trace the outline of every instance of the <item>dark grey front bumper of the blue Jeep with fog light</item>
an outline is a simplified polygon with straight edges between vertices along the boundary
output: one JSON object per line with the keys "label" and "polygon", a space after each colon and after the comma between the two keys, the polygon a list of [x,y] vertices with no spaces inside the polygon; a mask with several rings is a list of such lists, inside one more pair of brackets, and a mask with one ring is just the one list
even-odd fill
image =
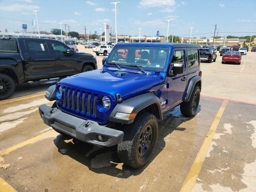
{"label": "dark grey front bumper of the blue Jeep with fog light", "polygon": [[[45,104],[39,107],[39,113],[48,126],[95,146],[114,146],[122,142],[124,137],[124,132],[120,130],[101,126],[95,121],[83,120]],[[98,140],[98,135],[102,136],[102,142]]]}

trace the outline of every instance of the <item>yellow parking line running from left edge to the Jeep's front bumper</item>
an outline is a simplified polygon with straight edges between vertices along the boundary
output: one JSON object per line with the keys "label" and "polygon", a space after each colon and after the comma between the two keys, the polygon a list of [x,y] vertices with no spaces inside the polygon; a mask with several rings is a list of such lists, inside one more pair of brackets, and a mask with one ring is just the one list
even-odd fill
{"label": "yellow parking line running from left edge to the Jeep's front bumper", "polygon": [[54,133],[54,132],[55,132],[54,130],[50,130],[50,131],[44,132],[44,133],[42,133],[42,134],[40,134],[38,136],[35,136],[35,137],[31,138],[31,139],[28,139],[28,140],[24,141],[22,143],[19,143],[19,144],[15,145],[15,146],[12,146],[12,147],[7,148],[5,150],[2,150],[0,152],[0,155],[6,155],[6,154],[8,154],[8,153],[18,149],[18,148],[21,148],[21,147],[26,146],[26,145],[28,145],[30,143],[36,142],[36,141],[38,141],[38,140],[40,140],[40,139],[42,139],[42,138],[44,138],[44,137]]}

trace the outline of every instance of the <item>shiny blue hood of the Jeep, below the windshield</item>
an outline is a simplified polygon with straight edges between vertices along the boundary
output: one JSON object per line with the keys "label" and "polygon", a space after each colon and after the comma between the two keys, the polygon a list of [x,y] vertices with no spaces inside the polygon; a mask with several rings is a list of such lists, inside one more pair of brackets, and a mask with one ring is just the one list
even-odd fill
{"label": "shiny blue hood of the Jeep, below the windshield", "polygon": [[163,78],[160,74],[143,74],[138,70],[109,68],[108,70],[98,69],[70,76],[60,80],[59,83],[105,93],[115,99],[117,93],[125,98],[136,92],[149,90],[158,85],[161,79]]}

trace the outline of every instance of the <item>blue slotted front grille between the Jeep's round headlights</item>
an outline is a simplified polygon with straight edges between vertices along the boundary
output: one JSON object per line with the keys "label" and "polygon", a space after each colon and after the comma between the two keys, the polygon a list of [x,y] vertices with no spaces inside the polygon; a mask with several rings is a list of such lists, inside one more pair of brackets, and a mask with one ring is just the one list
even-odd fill
{"label": "blue slotted front grille between the Jeep's round headlights", "polygon": [[74,88],[62,88],[62,108],[96,118],[98,95]]}

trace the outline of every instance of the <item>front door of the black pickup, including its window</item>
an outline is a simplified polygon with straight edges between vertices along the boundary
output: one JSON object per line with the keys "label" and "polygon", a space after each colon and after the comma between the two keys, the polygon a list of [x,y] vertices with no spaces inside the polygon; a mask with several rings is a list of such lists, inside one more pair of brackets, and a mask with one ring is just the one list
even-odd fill
{"label": "front door of the black pickup, including its window", "polygon": [[68,76],[80,73],[76,53],[73,55],[65,54],[66,50],[71,48],[57,41],[50,41],[49,47],[52,48],[52,52],[55,55],[56,76]]}

